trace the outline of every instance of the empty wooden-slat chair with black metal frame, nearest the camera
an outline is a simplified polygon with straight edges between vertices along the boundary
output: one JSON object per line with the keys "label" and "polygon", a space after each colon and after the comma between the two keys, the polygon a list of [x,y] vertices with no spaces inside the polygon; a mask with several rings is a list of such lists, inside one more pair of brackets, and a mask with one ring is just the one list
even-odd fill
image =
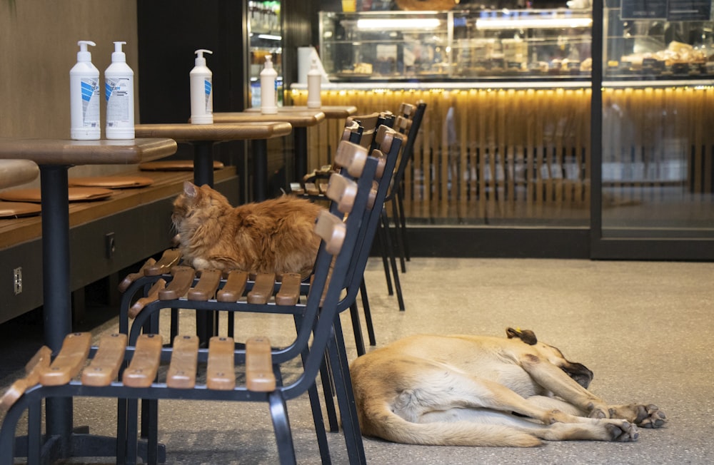
{"label": "empty wooden-slat chair with black metal frame, nearest the camera", "polygon": [[[163,347],[160,335],[141,334],[136,343],[130,342],[127,346],[126,335],[117,333],[104,337],[99,347],[90,347],[89,334],[70,334],[51,364],[47,362],[46,351],[39,353],[29,365],[25,381],[14,384],[15,389],[2,397],[0,405],[8,412],[0,429],[0,465],[14,463],[16,424],[26,409],[31,409],[28,451],[41,450],[41,418],[37,412],[41,400],[48,397],[266,402],[270,405],[281,464],[294,464],[296,456],[286,402],[314,387],[326,351],[344,365],[336,371],[335,384],[338,399],[345,401],[344,405],[341,404],[341,412],[350,462],[366,463],[356,412],[353,404],[347,402],[351,397],[351,384],[346,359],[337,352],[333,322],[338,320],[337,308],[343,282],[349,270],[356,265],[358,240],[364,238],[363,228],[368,226],[368,222],[364,221],[364,212],[373,193],[377,166],[378,160],[368,158],[363,175],[357,182],[338,181],[336,178],[335,184],[341,185],[341,188],[334,189],[331,196],[340,201],[341,208],[348,210],[349,215],[343,220],[341,215],[323,212],[318,218],[315,230],[322,242],[305,303],[281,307],[275,302],[257,305],[245,301],[211,300],[196,301],[200,305],[193,305],[197,310],[216,310],[218,307],[218,310],[230,311],[292,313],[296,316],[298,331],[291,344],[273,349],[268,337],[258,337],[249,339],[245,349],[236,349],[230,338],[213,337],[208,349],[203,349],[198,348],[196,337],[189,335],[178,337],[172,347]],[[175,303],[183,307],[187,302]],[[140,312],[138,318],[148,315],[152,306],[158,308],[162,305],[152,302]],[[80,379],[76,379],[88,357],[91,359],[89,367],[84,369]],[[291,384],[283,384],[280,368],[296,357],[303,357],[303,372]],[[129,366],[121,372],[125,361],[129,362]],[[169,369],[164,379],[157,379],[161,361],[170,362]],[[244,386],[236,386],[236,377],[231,375],[236,364],[245,369]],[[206,371],[206,384],[199,384],[196,370],[203,372],[203,369]],[[119,381],[115,380],[117,374],[121,378]],[[343,374],[346,377],[343,378]],[[117,440],[118,456],[126,451],[130,442],[124,444]],[[326,441],[319,442],[323,463],[326,463],[329,461]],[[36,455],[33,454],[29,463],[39,462],[40,458]],[[135,462],[136,456],[124,456],[122,459]]]}

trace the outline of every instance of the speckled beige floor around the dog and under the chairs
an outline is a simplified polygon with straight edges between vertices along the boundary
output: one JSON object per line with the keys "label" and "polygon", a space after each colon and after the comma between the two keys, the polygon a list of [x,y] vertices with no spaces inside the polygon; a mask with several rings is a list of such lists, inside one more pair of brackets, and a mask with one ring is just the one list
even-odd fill
{"label": "speckled beige floor around the dog and under the chairs", "polygon": [[[370,464],[714,463],[714,263],[414,258],[401,275],[406,312],[387,295],[381,262],[370,262],[365,277],[378,346],[421,332],[501,335],[508,326],[533,329],[539,339],[595,372],[593,392],[613,404],[657,404],[668,418],[662,429],[640,430],[640,439],[628,444],[570,441],[511,449],[408,446],[366,438]],[[87,315],[97,335],[116,329],[116,317],[104,321],[104,315],[100,310]],[[191,319],[184,320],[184,329],[190,329]],[[237,337],[278,334],[276,344],[281,328],[292,324],[237,321]],[[0,325],[2,384],[36,349],[40,332],[27,320]],[[266,408],[162,401],[160,440],[167,463],[277,463]],[[288,409],[298,462],[319,463],[306,397]],[[109,399],[75,403],[75,423],[98,434],[114,434],[113,414]],[[329,434],[329,439],[333,463],[347,464],[343,436]],[[113,463],[69,463],[74,462]]]}

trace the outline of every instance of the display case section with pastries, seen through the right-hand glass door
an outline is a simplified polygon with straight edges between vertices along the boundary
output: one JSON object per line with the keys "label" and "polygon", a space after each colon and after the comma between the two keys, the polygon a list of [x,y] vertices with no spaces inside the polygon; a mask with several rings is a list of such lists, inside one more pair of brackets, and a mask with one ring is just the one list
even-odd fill
{"label": "display case section with pastries, seen through the right-hand glass door", "polygon": [[605,3],[605,78],[714,78],[711,0]]}

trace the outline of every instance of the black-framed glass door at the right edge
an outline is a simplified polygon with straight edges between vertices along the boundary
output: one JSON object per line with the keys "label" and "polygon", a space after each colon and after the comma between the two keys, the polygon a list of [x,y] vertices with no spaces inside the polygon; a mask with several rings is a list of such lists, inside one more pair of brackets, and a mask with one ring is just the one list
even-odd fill
{"label": "black-framed glass door at the right edge", "polygon": [[714,259],[712,4],[679,3],[605,0],[595,258]]}

